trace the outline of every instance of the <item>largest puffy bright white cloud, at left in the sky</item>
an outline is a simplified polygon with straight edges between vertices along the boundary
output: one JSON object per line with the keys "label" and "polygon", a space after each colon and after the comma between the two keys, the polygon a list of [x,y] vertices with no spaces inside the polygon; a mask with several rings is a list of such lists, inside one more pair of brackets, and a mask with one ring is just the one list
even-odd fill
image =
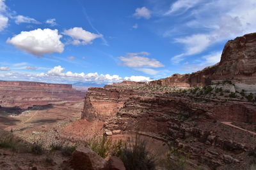
{"label": "largest puffy bright white cloud, at left in the sky", "polygon": [[20,32],[13,38],[8,38],[7,43],[33,55],[42,56],[45,53],[63,52],[64,45],[60,41],[61,37],[57,29],[35,29]]}

